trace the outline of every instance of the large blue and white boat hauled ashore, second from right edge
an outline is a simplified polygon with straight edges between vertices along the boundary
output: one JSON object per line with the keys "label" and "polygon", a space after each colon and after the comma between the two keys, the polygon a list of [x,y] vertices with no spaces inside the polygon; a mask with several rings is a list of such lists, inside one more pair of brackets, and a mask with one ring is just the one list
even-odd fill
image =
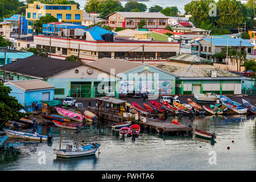
{"label": "large blue and white boat hauled ashore, second from right edge", "polygon": [[235,111],[238,114],[247,113],[247,109],[245,107],[243,107],[242,104],[232,101],[232,100],[230,100],[230,98],[228,98],[226,96],[220,96],[220,100],[221,100],[222,104],[224,104],[226,107]]}

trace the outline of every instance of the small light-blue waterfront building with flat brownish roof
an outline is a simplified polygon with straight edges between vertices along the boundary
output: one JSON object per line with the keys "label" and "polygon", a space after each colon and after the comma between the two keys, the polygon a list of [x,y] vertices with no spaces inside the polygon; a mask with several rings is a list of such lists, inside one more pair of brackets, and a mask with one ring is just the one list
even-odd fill
{"label": "small light-blue waterfront building with flat brownish roof", "polygon": [[12,90],[10,96],[15,97],[26,111],[33,111],[32,102],[38,102],[38,108],[42,108],[40,101],[53,101],[55,86],[39,79],[10,81],[4,84]]}

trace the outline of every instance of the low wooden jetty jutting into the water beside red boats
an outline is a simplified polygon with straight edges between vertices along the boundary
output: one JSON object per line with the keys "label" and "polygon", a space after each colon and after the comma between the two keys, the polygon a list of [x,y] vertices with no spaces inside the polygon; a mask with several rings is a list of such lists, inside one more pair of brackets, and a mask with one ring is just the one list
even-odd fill
{"label": "low wooden jetty jutting into the water beside red boats", "polygon": [[158,119],[147,118],[147,122],[140,122],[138,125],[143,126],[146,130],[156,130],[163,134],[191,133],[192,127],[175,125],[170,122],[160,121]]}

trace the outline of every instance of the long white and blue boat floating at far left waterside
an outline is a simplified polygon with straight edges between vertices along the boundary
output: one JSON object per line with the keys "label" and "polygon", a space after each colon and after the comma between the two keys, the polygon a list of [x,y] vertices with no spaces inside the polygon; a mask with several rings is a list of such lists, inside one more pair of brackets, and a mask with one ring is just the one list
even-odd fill
{"label": "long white and blue boat floating at far left waterside", "polygon": [[39,135],[37,132],[32,134],[32,133],[27,133],[22,131],[13,131],[13,130],[7,130],[7,129],[3,129],[3,131],[5,131],[5,134],[11,138],[23,138],[23,139],[31,139],[31,140],[47,140],[48,139],[48,136]]}

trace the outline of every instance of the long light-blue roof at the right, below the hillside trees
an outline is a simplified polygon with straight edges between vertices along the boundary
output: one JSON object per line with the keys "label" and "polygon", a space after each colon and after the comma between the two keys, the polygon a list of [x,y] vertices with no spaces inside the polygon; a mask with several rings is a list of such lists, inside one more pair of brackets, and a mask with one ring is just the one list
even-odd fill
{"label": "long light-blue roof at the right, below the hillside trees", "polygon": [[[210,43],[210,38],[203,38],[207,42]],[[253,44],[250,44],[244,39],[233,39],[233,38],[212,38],[212,44],[214,46],[240,46],[240,40],[241,40],[241,46],[251,46],[253,47]]]}

